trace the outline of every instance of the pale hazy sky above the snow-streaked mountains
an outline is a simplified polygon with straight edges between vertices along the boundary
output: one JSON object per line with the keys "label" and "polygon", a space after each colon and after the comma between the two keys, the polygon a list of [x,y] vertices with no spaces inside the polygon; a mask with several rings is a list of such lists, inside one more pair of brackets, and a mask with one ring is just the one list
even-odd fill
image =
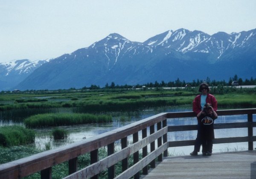
{"label": "pale hazy sky above the snow-streaked mountains", "polygon": [[0,0],[0,63],[56,58],[111,33],[144,42],[180,28],[256,29],[256,0]]}

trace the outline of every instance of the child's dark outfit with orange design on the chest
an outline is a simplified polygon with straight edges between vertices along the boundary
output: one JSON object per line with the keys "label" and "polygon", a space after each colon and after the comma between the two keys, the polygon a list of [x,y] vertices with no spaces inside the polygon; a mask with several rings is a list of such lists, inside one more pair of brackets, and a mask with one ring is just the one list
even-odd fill
{"label": "child's dark outfit with orange design on the chest", "polygon": [[201,114],[198,117],[198,122],[200,122],[200,139],[203,146],[203,153],[212,153],[212,139],[214,139],[214,120],[217,117],[212,115]]}

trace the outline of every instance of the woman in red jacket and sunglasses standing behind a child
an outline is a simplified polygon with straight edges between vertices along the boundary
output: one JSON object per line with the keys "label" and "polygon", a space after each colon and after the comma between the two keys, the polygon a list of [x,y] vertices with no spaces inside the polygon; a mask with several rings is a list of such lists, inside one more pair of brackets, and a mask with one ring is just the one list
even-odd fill
{"label": "woman in red jacket and sunglasses standing behind a child", "polygon": [[[200,95],[197,95],[193,101],[193,111],[196,115],[200,113],[200,111],[204,108],[204,105],[209,103],[212,105],[212,109],[214,111],[217,111],[217,100],[214,97],[214,95],[209,94],[209,85],[206,83],[202,83],[199,86],[199,92],[201,92]],[[201,121],[198,121],[198,133],[197,137],[195,139],[195,146],[194,151],[190,153],[192,156],[197,156],[198,152],[200,151],[201,147],[201,127],[200,127]]]}

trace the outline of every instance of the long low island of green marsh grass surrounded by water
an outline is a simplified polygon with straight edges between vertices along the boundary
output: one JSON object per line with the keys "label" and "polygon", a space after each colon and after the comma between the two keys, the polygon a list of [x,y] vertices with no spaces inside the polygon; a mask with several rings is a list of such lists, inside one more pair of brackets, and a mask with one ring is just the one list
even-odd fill
{"label": "long low island of green marsh grass surrounded by water", "polygon": [[26,127],[65,126],[101,122],[112,122],[112,117],[110,115],[85,113],[49,113],[32,115],[24,120]]}

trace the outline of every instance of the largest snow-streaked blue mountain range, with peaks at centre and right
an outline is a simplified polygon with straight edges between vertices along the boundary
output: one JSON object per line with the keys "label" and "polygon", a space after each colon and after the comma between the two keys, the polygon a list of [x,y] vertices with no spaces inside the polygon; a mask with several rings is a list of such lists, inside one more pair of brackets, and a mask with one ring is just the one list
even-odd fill
{"label": "largest snow-streaked blue mountain range, with peaks at centre and right", "polygon": [[[15,88],[68,89],[96,84],[144,84],[196,79],[256,77],[256,29],[208,35],[166,31],[143,43],[110,34],[87,48],[61,55],[35,69]],[[23,71],[25,72],[25,71]]]}

